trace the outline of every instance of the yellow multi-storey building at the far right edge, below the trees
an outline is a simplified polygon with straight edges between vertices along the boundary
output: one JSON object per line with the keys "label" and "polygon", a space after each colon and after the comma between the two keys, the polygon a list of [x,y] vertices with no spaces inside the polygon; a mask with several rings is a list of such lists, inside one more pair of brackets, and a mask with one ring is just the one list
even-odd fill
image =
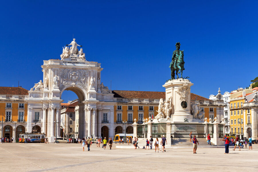
{"label": "yellow multi-storey building at the far right edge, below the trees", "polygon": [[252,136],[253,139],[257,138],[257,127],[255,126],[257,125],[258,103],[254,99],[255,95],[256,93],[251,89],[230,93],[230,133],[241,134],[243,137]]}

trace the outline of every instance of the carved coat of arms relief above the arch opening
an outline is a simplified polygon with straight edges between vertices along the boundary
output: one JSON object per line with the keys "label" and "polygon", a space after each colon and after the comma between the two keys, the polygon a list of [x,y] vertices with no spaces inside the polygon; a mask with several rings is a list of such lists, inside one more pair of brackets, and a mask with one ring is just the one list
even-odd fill
{"label": "carved coat of arms relief above the arch opening", "polygon": [[67,85],[80,85],[85,90],[87,89],[87,70],[73,69],[62,69],[61,70],[61,80],[60,80],[60,90],[62,90]]}

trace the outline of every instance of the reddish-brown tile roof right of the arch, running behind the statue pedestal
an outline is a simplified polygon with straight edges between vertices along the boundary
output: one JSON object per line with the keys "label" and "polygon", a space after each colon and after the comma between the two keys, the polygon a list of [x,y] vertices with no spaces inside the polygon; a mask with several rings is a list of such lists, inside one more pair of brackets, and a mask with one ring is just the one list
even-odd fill
{"label": "reddish-brown tile roof right of the arch, running behind the statue pedestal", "polygon": [[[125,90],[113,90],[114,97],[117,98],[135,98],[135,99],[165,99],[165,92],[157,91],[125,91]],[[191,93],[191,100],[210,100],[197,94]]]}

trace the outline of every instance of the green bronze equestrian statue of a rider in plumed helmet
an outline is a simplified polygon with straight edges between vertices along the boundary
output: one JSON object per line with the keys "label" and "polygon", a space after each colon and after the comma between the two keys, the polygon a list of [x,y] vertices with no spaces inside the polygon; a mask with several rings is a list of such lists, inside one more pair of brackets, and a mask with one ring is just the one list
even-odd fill
{"label": "green bronze equestrian statue of a rider in plumed helmet", "polygon": [[173,51],[172,55],[172,61],[169,65],[171,69],[171,79],[175,79],[175,72],[177,74],[177,79],[179,78],[178,73],[181,73],[181,78],[183,78],[183,70],[184,68],[184,50],[179,50],[180,49],[180,42],[177,42],[175,44],[176,50]]}

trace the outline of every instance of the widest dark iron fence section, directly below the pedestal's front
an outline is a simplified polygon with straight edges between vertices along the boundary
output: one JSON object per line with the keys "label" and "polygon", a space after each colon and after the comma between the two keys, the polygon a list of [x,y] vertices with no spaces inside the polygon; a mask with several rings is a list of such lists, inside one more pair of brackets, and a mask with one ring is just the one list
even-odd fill
{"label": "widest dark iron fence section, directly below the pedestal's front", "polygon": [[190,132],[192,136],[197,138],[205,138],[205,124],[170,124],[172,138],[189,138]]}

